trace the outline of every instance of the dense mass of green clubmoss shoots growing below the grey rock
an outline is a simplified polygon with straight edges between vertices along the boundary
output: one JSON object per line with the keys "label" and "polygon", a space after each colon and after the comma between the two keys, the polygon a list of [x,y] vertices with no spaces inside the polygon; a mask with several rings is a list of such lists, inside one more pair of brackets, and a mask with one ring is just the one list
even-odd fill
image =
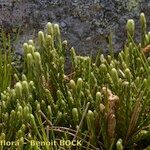
{"label": "dense mass of green clubmoss shoots growing below the grey rock", "polygon": [[[138,44],[134,21],[128,21],[127,42],[116,58],[112,47],[111,55],[98,54],[96,60],[71,48],[70,75],[64,71],[67,42],[61,41],[57,24],[48,23],[38,33],[38,44],[23,45],[18,74],[10,67],[9,51],[1,52],[0,141],[14,141],[9,147],[19,150],[148,147],[150,57],[143,49],[150,36],[143,13],[141,26]],[[81,145],[62,146],[61,140],[81,140]]]}

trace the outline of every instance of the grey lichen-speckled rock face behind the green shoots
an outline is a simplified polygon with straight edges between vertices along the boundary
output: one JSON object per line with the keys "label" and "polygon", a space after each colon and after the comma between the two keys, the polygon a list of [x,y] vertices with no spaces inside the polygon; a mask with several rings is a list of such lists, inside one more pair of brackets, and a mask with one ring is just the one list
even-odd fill
{"label": "grey lichen-speckled rock face behind the green shoots", "polygon": [[144,12],[150,25],[149,10],[149,0],[1,0],[0,25],[16,39],[13,45],[18,54],[22,54],[24,42],[52,22],[60,25],[62,38],[78,54],[95,55],[100,49],[108,51],[110,33],[115,51],[122,49],[130,18],[140,37],[139,15]]}

